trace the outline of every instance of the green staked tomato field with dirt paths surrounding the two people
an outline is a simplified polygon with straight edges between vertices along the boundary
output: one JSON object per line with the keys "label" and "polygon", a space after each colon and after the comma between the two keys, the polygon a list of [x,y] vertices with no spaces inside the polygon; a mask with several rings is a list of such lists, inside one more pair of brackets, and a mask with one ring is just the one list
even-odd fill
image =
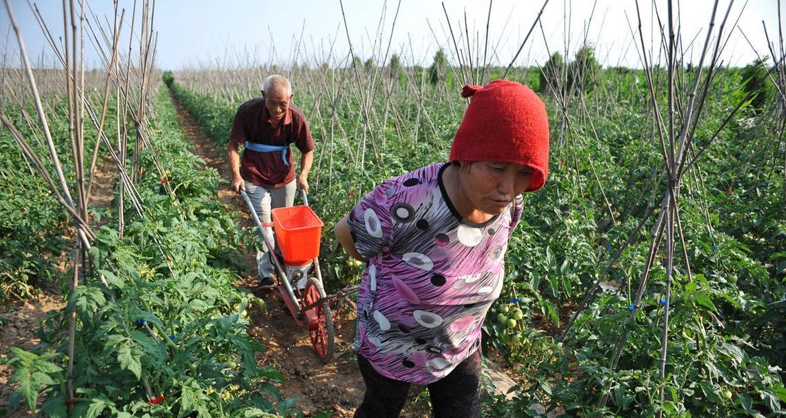
{"label": "green staked tomato field with dirt paths surrounding the two people", "polygon": [[[51,39],[57,69],[6,47],[0,416],[352,416],[365,390],[354,311],[332,306],[322,363],[281,295],[255,288],[262,244],[230,188],[235,112],[271,74],[291,81],[317,147],[308,200],[328,294],[365,267],[333,226],[380,182],[448,160],[462,86],[511,79],[545,102],[549,178],[523,196],[483,325],[486,369],[507,375],[484,381],[483,416],[786,414],[777,30],[744,68],[718,58],[734,19],[719,8],[701,16],[713,29],[694,41],[698,61],[678,27],[663,25],[660,53],[634,32],[638,68],[599,61],[586,39],[507,65],[453,27],[458,42],[427,64],[379,35],[370,57],[303,43],[288,62],[163,71],[142,3],[129,55],[122,14],[114,29],[95,21],[99,69],[82,69],[76,31]],[[413,387],[402,416],[429,411]]]}

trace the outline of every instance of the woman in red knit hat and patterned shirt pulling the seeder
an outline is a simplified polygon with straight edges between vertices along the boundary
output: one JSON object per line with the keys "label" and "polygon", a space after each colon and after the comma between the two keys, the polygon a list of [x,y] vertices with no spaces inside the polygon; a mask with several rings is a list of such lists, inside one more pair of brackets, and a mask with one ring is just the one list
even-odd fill
{"label": "woman in red knit hat and patterned shirt pulling the seeder", "polygon": [[336,224],[367,261],[352,348],[365,381],[355,417],[399,416],[410,383],[434,416],[480,416],[480,331],[500,295],[522,192],[549,170],[545,105],[519,83],[465,86],[472,97],[436,163],[377,186]]}

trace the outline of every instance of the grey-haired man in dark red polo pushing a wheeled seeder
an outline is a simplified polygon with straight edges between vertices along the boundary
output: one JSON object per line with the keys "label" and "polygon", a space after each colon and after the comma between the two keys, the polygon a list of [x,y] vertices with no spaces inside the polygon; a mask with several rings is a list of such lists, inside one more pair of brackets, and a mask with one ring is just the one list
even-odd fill
{"label": "grey-haired man in dark red polo pushing a wheeled seeder", "polygon": [[[292,105],[292,86],[282,75],[263,82],[262,97],[246,101],[237,109],[230,131],[227,158],[232,169],[232,189],[248,193],[259,220],[270,222],[270,209],[292,206],[296,189],[308,192],[308,172],[314,161],[314,138],[299,108]],[[300,174],[292,162],[294,143],[300,150]],[[241,159],[237,149],[244,146]],[[273,229],[265,236],[274,242]],[[274,287],[272,255],[257,251],[260,288]]]}

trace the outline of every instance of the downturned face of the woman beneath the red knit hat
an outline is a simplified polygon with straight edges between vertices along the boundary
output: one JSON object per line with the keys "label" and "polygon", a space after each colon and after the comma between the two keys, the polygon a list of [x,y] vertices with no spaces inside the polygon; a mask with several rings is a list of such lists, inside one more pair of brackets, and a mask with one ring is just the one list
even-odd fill
{"label": "downturned face of the woman beneath the red knit hat", "polygon": [[530,185],[533,170],[516,163],[461,163],[461,194],[473,209],[501,214]]}

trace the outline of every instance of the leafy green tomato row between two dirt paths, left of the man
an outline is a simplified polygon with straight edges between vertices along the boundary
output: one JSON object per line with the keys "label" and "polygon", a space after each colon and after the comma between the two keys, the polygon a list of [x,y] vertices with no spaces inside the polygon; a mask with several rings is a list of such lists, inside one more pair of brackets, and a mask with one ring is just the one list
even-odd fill
{"label": "leafy green tomato row between two dirt paths, left of the man", "polygon": [[[257,364],[263,347],[246,332],[247,310],[263,306],[237,286],[246,236],[215,200],[219,175],[199,169],[204,162],[183,141],[165,89],[153,108],[155,149],[142,152],[137,183],[144,216],[127,203],[121,237],[116,214],[99,211],[107,223],[87,255],[93,273],[44,321],[41,343],[31,351],[14,348],[6,360],[14,369],[9,383],[19,385],[9,409],[35,410],[42,398],[39,412],[53,417],[298,414],[295,400],[277,391],[281,373]],[[118,198],[116,192],[112,207]],[[77,326],[69,359],[72,308]]]}

